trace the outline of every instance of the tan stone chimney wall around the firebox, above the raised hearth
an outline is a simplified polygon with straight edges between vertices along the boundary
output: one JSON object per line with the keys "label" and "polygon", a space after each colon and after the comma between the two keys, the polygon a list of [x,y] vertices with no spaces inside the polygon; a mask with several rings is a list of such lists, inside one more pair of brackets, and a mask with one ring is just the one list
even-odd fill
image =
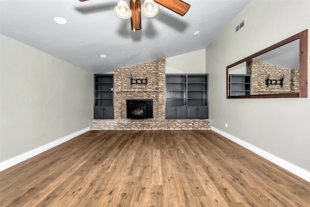
{"label": "tan stone chimney wall around the firebox, above the raised hearth", "polygon": [[[114,69],[114,118],[126,119],[127,99],[153,99],[153,117],[165,119],[165,57],[143,64]],[[148,80],[147,86],[130,84],[133,79]]]}

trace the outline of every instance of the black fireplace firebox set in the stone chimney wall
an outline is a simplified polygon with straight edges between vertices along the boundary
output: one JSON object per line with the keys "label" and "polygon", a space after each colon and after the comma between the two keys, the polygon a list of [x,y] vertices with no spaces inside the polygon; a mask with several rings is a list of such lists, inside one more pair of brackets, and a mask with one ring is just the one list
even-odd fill
{"label": "black fireplace firebox set in the stone chimney wall", "polygon": [[128,119],[153,118],[153,99],[126,100]]}

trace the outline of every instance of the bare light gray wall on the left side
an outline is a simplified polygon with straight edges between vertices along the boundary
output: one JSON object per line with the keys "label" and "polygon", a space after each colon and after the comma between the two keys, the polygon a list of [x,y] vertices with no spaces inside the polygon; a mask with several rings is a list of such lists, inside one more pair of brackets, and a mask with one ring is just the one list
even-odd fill
{"label": "bare light gray wall on the left side", "polygon": [[93,74],[0,34],[0,162],[89,127]]}

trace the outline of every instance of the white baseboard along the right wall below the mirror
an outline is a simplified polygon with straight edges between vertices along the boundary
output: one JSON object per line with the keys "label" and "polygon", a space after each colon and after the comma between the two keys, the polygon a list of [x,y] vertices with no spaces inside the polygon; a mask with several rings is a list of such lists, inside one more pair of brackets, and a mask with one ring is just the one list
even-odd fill
{"label": "white baseboard along the right wall below the mirror", "polygon": [[306,171],[288,161],[285,161],[284,159],[280,159],[277,156],[274,156],[252,144],[249,144],[243,140],[240,140],[222,130],[219,130],[215,127],[211,127],[211,129],[215,132],[217,132],[218,134],[226,137],[227,139],[233,141],[234,143],[237,143],[245,148],[247,148],[248,150],[254,152],[255,154],[263,157],[264,159],[268,159],[269,161],[275,163],[276,165],[279,165],[280,167],[284,168],[287,171],[290,171],[291,173],[293,173],[294,175],[297,175],[305,180],[307,180],[308,182],[310,182],[310,172]]}

